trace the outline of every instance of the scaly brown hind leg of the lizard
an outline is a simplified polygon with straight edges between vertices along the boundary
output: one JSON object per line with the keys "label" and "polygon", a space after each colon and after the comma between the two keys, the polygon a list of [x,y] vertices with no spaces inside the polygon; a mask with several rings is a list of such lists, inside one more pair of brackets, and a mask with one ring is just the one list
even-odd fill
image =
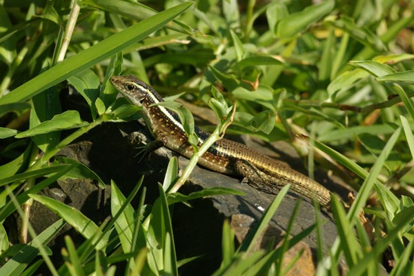
{"label": "scaly brown hind leg of the lizard", "polygon": [[237,159],[235,161],[235,171],[237,175],[244,177],[242,182],[246,182],[247,179],[248,184],[257,188],[257,190],[274,195],[280,190],[280,186],[275,184],[269,175],[266,175],[249,161]]}

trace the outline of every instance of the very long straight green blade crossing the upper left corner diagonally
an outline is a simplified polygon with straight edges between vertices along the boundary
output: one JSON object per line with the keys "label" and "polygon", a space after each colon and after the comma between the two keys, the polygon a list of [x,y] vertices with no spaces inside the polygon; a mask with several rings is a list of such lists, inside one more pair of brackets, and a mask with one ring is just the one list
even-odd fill
{"label": "very long straight green blade crossing the upper left corner diagonally", "polygon": [[108,57],[115,55],[117,52],[155,32],[155,30],[164,26],[192,5],[193,2],[181,3],[174,8],[164,10],[148,19],[140,21],[117,34],[113,34],[107,39],[79,52],[75,56],[65,59],[61,63],[58,63],[37,77],[30,79],[30,81],[12,90],[0,98],[0,105],[16,101],[26,101],[39,92],[75,75],[77,72],[81,72],[100,61],[108,59]]}

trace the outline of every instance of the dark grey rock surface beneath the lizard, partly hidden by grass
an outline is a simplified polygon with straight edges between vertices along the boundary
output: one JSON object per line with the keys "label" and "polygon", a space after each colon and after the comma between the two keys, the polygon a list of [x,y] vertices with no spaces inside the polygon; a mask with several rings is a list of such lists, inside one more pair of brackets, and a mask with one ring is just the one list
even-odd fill
{"label": "dark grey rock surface beneath the lizard, partly hidden by grass", "polygon": [[[160,148],[148,155],[145,161],[139,162],[139,158],[135,157],[136,145],[130,144],[130,140],[121,135],[119,128],[122,128],[126,133],[136,130],[146,131],[138,122],[104,124],[81,137],[79,141],[63,148],[59,155],[77,159],[86,164],[106,184],[110,184],[111,179],[114,180],[126,196],[137,184],[141,175],[145,175],[144,184],[148,188],[147,200],[150,203],[151,200],[157,197],[157,185],[155,184],[163,181],[168,160],[176,154],[165,148]],[[253,141],[248,141],[248,144],[259,150],[262,147],[259,144],[255,146]],[[286,149],[286,145],[284,143],[280,148]],[[187,162],[188,160],[184,157],[179,157],[180,168],[184,168]],[[297,167],[294,168],[297,169]],[[230,220],[230,224],[236,232],[237,241],[242,242],[250,227],[255,225],[257,219],[263,215],[264,210],[275,197],[275,195],[256,190],[248,184],[242,184],[240,179],[199,167],[195,168],[188,183],[181,188],[180,193],[191,193],[201,188],[217,186],[241,190],[245,195],[219,195],[199,199],[191,201],[192,208],[184,204],[175,204],[173,227],[177,258],[184,259],[203,255],[195,262],[181,268],[180,272],[183,275],[193,274],[200,266],[206,268],[201,274],[209,275],[213,273],[219,267],[221,260],[221,229],[224,219]],[[97,185],[88,179],[59,181],[54,186],[44,190],[43,195],[61,200],[81,210],[83,214],[90,217],[97,224],[110,216],[110,189],[97,188]],[[278,244],[283,239],[291,214],[299,198],[301,197],[294,192],[288,193],[261,238],[262,243],[257,244],[257,248],[266,248],[269,240],[273,240],[275,244]],[[326,213],[322,212],[319,216],[326,220],[326,223],[323,224],[323,242],[325,248],[329,248],[337,235],[335,224],[329,217],[326,217]],[[55,219],[57,219],[57,215],[41,206],[41,204],[34,203],[31,222],[37,233],[48,227]],[[304,199],[300,204],[299,213],[295,218],[291,234],[296,235],[314,223],[313,205],[308,199]],[[75,242],[76,240],[82,241],[79,233],[76,233],[69,226],[66,226],[62,232],[64,235],[70,235],[72,239],[75,239]],[[58,248],[63,246],[63,236],[57,237],[55,242],[55,246]],[[290,273],[295,273],[295,275],[297,275],[296,273],[300,275],[313,275],[315,273],[315,267],[311,261],[315,260],[316,242],[315,235],[310,235],[302,243],[291,248],[289,253],[286,253],[284,262],[288,264],[299,252],[298,248],[302,248],[304,253],[298,262],[307,264],[306,266],[295,266],[295,270],[290,271]],[[298,269],[302,271],[298,271]],[[198,275],[200,274],[198,273]]]}

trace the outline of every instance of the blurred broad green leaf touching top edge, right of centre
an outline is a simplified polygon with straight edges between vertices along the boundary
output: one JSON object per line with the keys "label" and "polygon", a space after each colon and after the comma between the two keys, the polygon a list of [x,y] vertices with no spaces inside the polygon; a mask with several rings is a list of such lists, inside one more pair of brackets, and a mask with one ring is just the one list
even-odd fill
{"label": "blurred broad green leaf touching top edge, right of centre", "polygon": [[277,23],[276,36],[281,38],[294,37],[303,32],[311,23],[326,16],[335,7],[335,1],[327,0],[320,4],[308,6],[300,12],[289,14]]}

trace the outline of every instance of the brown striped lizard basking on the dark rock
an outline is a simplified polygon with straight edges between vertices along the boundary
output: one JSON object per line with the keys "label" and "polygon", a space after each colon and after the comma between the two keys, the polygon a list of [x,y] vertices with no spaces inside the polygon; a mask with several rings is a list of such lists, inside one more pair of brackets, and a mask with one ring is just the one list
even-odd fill
{"label": "brown striped lizard basking on the dark rock", "polygon": [[[155,90],[133,75],[112,76],[110,83],[133,105],[141,106],[141,117],[160,146],[190,158],[193,147],[177,114],[157,103],[164,101]],[[199,145],[210,135],[195,126]],[[245,177],[256,188],[273,193],[280,186],[291,185],[300,195],[330,206],[331,191],[317,181],[261,152],[230,139],[220,139],[199,159],[199,165],[230,176]]]}

